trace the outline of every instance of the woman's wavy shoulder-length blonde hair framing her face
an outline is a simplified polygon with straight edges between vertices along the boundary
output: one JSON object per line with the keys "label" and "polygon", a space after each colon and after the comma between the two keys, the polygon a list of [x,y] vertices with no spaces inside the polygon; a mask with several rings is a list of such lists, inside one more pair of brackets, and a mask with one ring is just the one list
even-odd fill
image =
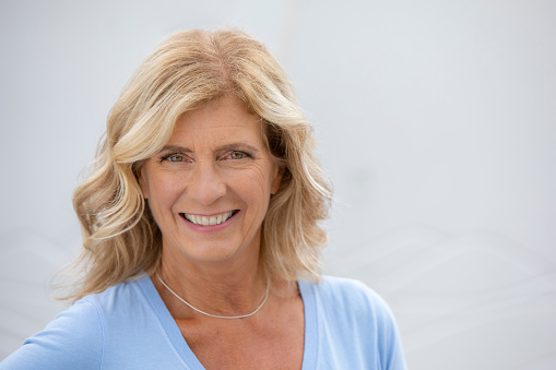
{"label": "woman's wavy shoulder-length blonde hair framing her face", "polygon": [[289,81],[248,35],[192,29],[164,40],[110,111],[92,172],[73,196],[84,248],[71,270],[79,275],[76,290],[66,298],[79,299],[156,270],[162,235],[137,174],[169,140],[181,114],[226,94],[261,118],[282,170],[262,226],[265,273],[288,281],[319,278],[318,247],[328,240],[318,222],[327,216],[331,192]]}

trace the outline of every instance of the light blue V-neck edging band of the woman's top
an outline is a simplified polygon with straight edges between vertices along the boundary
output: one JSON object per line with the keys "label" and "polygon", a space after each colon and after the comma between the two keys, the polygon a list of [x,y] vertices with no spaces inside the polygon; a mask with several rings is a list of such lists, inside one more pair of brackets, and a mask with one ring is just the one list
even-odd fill
{"label": "light blue V-neck edging band of the woman's top", "polygon": [[[205,370],[191,348],[181,335],[178,324],[164,305],[152,279],[145,275],[145,278],[139,282],[149,299],[153,310],[159,319],[162,330],[166,333],[169,344],[174,347],[177,355],[184,361],[184,365],[191,370]],[[297,286],[301,296],[304,306],[304,354],[301,369],[316,369],[318,353],[318,325],[317,325],[317,306],[315,302],[315,290],[312,285],[305,281],[298,281]]]}

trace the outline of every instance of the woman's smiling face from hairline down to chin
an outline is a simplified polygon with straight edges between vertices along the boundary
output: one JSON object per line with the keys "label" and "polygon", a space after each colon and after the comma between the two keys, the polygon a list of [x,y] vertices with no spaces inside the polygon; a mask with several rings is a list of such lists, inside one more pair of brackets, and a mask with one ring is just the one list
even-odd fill
{"label": "woman's smiling face from hairline down to chin", "polygon": [[281,176],[260,119],[224,96],[184,114],[140,172],[161,228],[163,255],[224,261],[258,253],[262,220]]}

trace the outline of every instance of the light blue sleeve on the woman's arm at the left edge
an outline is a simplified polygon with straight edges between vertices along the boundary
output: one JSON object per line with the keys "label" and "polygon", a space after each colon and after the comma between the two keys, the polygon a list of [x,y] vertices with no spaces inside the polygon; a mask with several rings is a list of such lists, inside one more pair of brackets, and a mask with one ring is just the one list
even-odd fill
{"label": "light blue sleeve on the woman's arm at the left edge", "polygon": [[82,299],[0,363],[1,370],[100,369],[103,322],[96,306]]}

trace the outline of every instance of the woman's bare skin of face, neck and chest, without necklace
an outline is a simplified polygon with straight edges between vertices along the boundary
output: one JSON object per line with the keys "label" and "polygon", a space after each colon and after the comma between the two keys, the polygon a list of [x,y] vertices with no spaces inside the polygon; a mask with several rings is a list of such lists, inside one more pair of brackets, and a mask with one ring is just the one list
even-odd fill
{"label": "woman's bare skin of face, neck and chest, without necklace", "polygon": [[[233,96],[184,114],[165,147],[147,159],[140,184],[162,230],[158,270],[174,291],[217,315],[252,312],[267,278],[259,266],[261,225],[281,171],[260,119]],[[188,215],[233,212],[221,225]],[[222,320],[200,314],[153,283],[198,359],[208,369],[300,369],[303,300],[296,284],[274,279],[255,315]]]}

